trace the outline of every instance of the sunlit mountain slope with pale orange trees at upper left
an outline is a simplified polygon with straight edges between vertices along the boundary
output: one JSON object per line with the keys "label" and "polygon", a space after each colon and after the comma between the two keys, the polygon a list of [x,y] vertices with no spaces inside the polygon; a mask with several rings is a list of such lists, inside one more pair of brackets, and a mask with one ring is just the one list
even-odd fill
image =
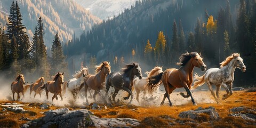
{"label": "sunlit mountain slope with pale orange trees at upper left", "polygon": [[[11,2],[1,1],[1,24],[5,25],[7,22],[6,13],[10,10]],[[101,22],[98,17],[71,0],[22,0],[18,1],[18,4],[23,16],[23,24],[27,27],[30,37],[33,36],[38,17],[42,17],[46,46],[51,46],[56,31],[59,32],[61,40],[66,42],[73,37],[74,31],[76,34],[81,34],[83,30],[90,30],[94,24]]]}

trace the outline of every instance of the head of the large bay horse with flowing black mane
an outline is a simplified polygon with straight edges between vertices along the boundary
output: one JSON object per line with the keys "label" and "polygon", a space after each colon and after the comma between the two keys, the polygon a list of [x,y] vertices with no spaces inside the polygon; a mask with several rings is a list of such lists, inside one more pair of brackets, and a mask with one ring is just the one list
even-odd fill
{"label": "head of the large bay horse with flowing black mane", "polygon": [[203,58],[200,57],[201,53],[189,53],[191,59],[193,59],[193,64],[195,67],[201,68],[202,71],[206,70],[206,65],[204,65]]}

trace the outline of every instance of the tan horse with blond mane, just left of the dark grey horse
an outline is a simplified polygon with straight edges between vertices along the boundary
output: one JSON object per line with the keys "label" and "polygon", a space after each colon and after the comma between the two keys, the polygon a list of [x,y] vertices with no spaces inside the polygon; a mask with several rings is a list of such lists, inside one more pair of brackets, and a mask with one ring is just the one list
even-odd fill
{"label": "tan horse with blond mane, just left of the dark grey horse", "polygon": [[87,89],[94,90],[93,99],[95,100],[96,95],[100,92],[100,90],[105,89],[103,82],[105,82],[106,76],[111,73],[111,66],[108,61],[102,62],[100,65],[95,66],[95,75],[87,75],[84,78],[84,84],[80,86],[84,86],[84,93],[86,98],[86,103],[88,103],[87,99]]}

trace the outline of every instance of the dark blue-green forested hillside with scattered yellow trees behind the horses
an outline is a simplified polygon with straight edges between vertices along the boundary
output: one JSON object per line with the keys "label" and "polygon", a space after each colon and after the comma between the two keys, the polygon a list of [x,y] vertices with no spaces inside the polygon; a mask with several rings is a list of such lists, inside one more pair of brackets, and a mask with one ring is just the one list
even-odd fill
{"label": "dark blue-green forested hillside with scattered yellow trees behind the horses", "polygon": [[147,63],[146,70],[177,67],[174,63],[185,51],[202,52],[209,67],[219,67],[230,53],[239,52],[248,71],[237,70],[237,81],[242,83],[243,76],[255,81],[255,12],[255,2],[247,0],[140,1],[73,38],[64,52],[69,58],[86,54],[87,63],[94,56],[111,60],[117,67],[138,61]]}

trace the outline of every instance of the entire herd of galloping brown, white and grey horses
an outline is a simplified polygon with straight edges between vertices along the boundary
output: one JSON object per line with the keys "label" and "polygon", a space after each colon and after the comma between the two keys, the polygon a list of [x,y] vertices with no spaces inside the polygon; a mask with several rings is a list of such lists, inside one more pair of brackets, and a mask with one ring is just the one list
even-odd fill
{"label": "entire herd of galloping brown, white and grey horses", "polygon": [[[57,95],[60,95],[61,100],[63,100],[62,94],[65,93],[66,90],[69,90],[69,92],[73,94],[74,99],[76,99],[78,93],[84,89],[86,103],[89,102],[87,99],[87,92],[90,92],[91,95],[92,90],[94,90],[94,94],[91,97],[93,97],[94,100],[96,95],[100,93],[100,90],[105,90],[105,98],[103,99],[107,102],[106,98],[108,97],[108,91],[110,86],[112,86],[115,91],[111,99],[114,102],[116,102],[115,97],[119,90],[124,90],[129,95],[123,99],[127,100],[131,97],[129,101],[129,103],[131,103],[133,99],[132,91],[134,89],[137,92],[136,100],[139,102],[139,94],[141,91],[144,92],[143,98],[145,98],[146,92],[152,93],[153,91],[156,91],[157,87],[163,83],[166,93],[164,94],[161,105],[163,105],[167,98],[170,106],[172,106],[169,95],[173,90],[180,87],[184,87],[187,92],[187,95],[180,93],[182,97],[191,97],[193,105],[196,105],[190,90],[196,89],[196,87],[206,83],[209,86],[215,101],[219,103],[219,91],[221,86],[226,90],[226,94],[223,95],[222,100],[227,99],[233,94],[232,83],[234,81],[235,69],[239,68],[243,72],[246,70],[243,59],[239,56],[239,53],[231,54],[226,60],[220,63],[220,68],[210,68],[203,76],[199,76],[195,73],[194,86],[191,86],[193,84],[194,67],[198,67],[202,71],[206,70],[206,65],[200,55],[201,54],[198,54],[197,52],[183,53],[179,58],[180,61],[177,63],[177,65],[180,66],[179,69],[170,68],[163,71],[162,67],[156,66],[151,71],[145,73],[147,74],[147,77],[142,77],[139,63],[132,62],[127,64],[121,69],[122,73],[119,73],[117,71],[111,72],[111,66],[108,61],[103,61],[100,65],[95,66],[95,74],[89,74],[88,68],[82,66],[81,70],[77,71],[76,74],[73,75],[74,78],[69,79],[68,82],[64,82],[64,73],[58,73],[54,76],[53,81],[47,81],[45,83],[44,77],[40,77],[35,83],[24,85],[25,78],[20,74],[11,84],[13,100],[15,100],[14,93],[18,93],[17,100],[20,100],[19,93],[22,93],[24,97],[24,92],[28,89],[30,89],[30,95],[33,91],[35,92],[34,97],[36,94],[39,94],[41,97],[41,92],[45,90],[47,99],[48,93],[51,92],[53,93],[52,100],[54,98],[58,100]],[[137,76],[137,78],[134,79],[135,76]],[[212,90],[212,85],[216,86],[216,95]]]}

